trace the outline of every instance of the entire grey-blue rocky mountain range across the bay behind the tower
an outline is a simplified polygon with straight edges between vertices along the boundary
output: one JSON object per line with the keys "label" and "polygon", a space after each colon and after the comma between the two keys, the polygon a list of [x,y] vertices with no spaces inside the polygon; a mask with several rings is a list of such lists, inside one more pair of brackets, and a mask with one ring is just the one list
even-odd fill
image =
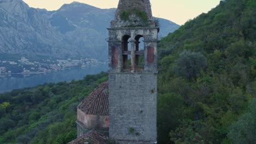
{"label": "entire grey-blue rocky mountain range across the bay behind the tower", "polygon": [[[114,13],[115,8],[78,2],[47,11],[30,8],[22,0],[1,0],[0,54],[106,60],[106,28]],[[160,37],[179,27],[168,20],[159,21]]]}

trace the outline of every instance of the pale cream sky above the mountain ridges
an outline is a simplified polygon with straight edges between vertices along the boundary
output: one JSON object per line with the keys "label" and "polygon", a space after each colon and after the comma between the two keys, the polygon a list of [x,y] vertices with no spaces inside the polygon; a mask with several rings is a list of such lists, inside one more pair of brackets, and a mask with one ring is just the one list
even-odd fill
{"label": "pale cream sky above the mountain ridges", "polygon": [[[73,0],[23,0],[30,7],[57,10]],[[98,8],[117,8],[119,0],[76,0]],[[220,0],[151,0],[153,16],[162,17],[183,25],[189,19],[207,13],[219,4]]]}

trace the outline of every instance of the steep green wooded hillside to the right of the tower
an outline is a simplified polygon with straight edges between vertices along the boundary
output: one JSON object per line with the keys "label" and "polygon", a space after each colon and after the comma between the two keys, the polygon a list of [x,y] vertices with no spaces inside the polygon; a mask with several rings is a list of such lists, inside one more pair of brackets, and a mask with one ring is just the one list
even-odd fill
{"label": "steep green wooded hillside to the right of the tower", "polygon": [[236,123],[255,76],[256,1],[221,1],[185,23],[159,44],[158,142],[255,143],[253,122]]}

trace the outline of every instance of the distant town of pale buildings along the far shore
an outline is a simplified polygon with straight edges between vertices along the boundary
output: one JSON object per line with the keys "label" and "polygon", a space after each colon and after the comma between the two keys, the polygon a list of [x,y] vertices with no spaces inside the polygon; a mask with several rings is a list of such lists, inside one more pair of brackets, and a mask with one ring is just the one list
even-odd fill
{"label": "distant town of pale buildings along the far shore", "polygon": [[0,61],[0,75],[8,74],[39,74],[49,73],[54,70],[68,68],[86,68],[89,65],[102,65],[107,62],[98,61],[92,58],[80,59],[42,59],[42,61],[30,61],[26,57],[21,57],[18,61]]}

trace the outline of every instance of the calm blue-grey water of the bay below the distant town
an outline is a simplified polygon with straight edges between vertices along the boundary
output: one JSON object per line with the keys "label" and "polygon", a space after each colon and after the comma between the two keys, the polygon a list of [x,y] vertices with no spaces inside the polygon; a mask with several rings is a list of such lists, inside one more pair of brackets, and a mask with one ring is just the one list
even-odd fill
{"label": "calm blue-grey water of the bay below the distant town", "polygon": [[13,89],[24,87],[34,87],[44,83],[57,83],[62,81],[82,80],[86,75],[98,74],[101,71],[107,71],[108,65],[95,65],[86,68],[74,68],[52,71],[43,74],[12,74],[0,77],[0,93],[9,92]]}

